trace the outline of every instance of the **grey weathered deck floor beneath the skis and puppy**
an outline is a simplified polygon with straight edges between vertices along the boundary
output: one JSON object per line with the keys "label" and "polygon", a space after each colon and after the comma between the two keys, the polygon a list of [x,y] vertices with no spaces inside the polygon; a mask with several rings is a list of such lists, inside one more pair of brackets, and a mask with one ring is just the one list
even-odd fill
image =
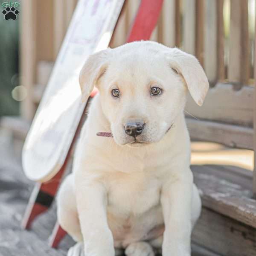
{"label": "grey weathered deck floor beneath the skis and puppy", "polygon": [[[0,136],[0,255],[1,256],[64,256],[74,244],[66,236],[55,250],[47,239],[56,221],[56,206],[42,214],[32,224],[31,230],[20,228],[20,222],[34,183],[22,172],[20,157],[15,156],[11,142]],[[192,256],[206,256],[200,247],[193,246]]]}

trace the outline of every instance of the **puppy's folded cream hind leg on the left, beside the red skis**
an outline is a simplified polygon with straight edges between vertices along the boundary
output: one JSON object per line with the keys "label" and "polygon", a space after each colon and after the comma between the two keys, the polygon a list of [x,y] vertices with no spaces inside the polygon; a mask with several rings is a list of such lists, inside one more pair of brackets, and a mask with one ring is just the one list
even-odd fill
{"label": "puppy's folded cream hind leg on the left, beside the red skis", "polygon": [[68,175],[60,186],[57,195],[57,217],[61,227],[75,241],[82,241],[74,192],[74,176]]}

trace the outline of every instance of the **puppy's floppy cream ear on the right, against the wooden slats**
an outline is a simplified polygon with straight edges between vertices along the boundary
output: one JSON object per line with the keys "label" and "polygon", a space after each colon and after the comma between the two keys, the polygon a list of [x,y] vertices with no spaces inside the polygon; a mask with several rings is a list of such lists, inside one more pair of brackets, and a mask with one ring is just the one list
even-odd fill
{"label": "puppy's floppy cream ear on the right, against the wooden slats", "polygon": [[201,106],[209,89],[209,82],[198,60],[177,48],[170,49],[166,56],[170,67],[183,76],[192,98]]}

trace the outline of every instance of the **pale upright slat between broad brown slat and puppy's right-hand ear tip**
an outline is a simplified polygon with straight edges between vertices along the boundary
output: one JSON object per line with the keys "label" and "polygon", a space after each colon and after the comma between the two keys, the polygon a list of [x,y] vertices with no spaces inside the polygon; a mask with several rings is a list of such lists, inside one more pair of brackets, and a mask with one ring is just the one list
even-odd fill
{"label": "pale upright slat between broad brown slat and puppy's right-hand ear tip", "polygon": [[217,2],[205,1],[204,70],[210,82],[217,80]]}

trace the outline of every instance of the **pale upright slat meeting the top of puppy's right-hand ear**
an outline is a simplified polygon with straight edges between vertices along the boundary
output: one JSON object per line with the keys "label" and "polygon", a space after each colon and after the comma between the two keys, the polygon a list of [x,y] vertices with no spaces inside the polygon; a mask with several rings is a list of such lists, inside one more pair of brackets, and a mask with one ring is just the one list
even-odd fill
{"label": "pale upright slat meeting the top of puppy's right-hand ear", "polygon": [[183,50],[195,55],[195,0],[185,0],[183,6]]}

